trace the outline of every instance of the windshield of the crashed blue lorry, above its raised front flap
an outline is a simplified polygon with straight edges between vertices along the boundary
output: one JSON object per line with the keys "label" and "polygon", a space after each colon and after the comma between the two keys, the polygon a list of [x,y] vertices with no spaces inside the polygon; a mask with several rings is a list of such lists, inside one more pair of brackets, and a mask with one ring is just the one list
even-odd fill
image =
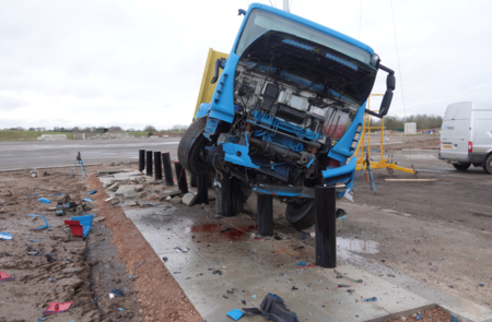
{"label": "windshield of the crashed blue lorry, above its raised front flap", "polygon": [[243,29],[243,34],[241,35],[239,43],[237,44],[237,56],[242,56],[249,44],[251,44],[258,36],[270,29],[289,33],[297,37],[318,43],[367,64],[371,62],[371,53],[361,48],[306,27],[302,24],[258,9],[253,10],[249,14],[248,21]]}

